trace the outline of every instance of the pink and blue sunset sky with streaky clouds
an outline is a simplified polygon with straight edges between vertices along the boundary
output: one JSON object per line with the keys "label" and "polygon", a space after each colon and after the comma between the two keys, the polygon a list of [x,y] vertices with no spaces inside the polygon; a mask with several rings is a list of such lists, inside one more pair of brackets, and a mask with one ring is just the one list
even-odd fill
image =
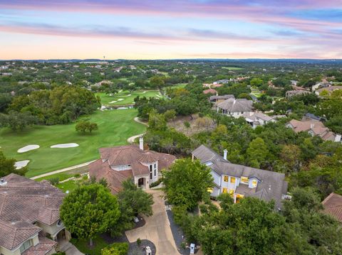
{"label": "pink and blue sunset sky with streaky clouds", "polygon": [[342,58],[342,0],[0,0],[0,59]]}

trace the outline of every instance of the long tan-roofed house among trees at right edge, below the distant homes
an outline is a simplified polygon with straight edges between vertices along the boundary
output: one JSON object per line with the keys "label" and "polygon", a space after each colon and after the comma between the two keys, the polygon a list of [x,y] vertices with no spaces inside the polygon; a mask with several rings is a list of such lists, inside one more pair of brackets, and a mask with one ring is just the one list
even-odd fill
{"label": "long tan-roofed house among trees at right edge, below the distant homes", "polygon": [[301,131],[308,132],[311,136],[320,136],[324,141],[336,141],[341,142],[341,135],[335,134],[330,131],[321,121],[316,119],[302,119],[297,121],[296,119],[291,119],[286,124],[286,127],[293,129],[296,133]]}

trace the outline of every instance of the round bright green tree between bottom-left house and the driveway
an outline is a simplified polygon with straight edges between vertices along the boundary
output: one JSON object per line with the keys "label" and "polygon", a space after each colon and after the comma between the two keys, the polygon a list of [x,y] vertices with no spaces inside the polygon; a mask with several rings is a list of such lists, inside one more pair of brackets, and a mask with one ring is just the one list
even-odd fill
{"label": "round bright green tree between bottom-left house and the driveway", "polygon": [[61,219],[66,228],[93,245],[95,234],[107,231],[120,217],[118,200],[108,188],[93,183],[82,185],[68,194],[61,206]]}

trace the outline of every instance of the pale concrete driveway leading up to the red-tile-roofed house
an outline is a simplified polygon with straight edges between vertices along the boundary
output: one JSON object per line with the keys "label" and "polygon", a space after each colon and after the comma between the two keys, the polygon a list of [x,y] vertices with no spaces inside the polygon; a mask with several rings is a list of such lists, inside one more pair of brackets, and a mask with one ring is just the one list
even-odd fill
{"label": "pale concrete driveway leading up to the red-tile-roofed house", "polygon": [[153,195],[153,215],[144,217],[146,224],[138,229],[126,232],[129,242],[135,242],[138,238],[148,239],[153,242],[157,249],[157,255],[179,255],[175,240],[172,237],[170,223],[165,211],[165,200],[160,197],[164,195],[161,190],[147,190]]}

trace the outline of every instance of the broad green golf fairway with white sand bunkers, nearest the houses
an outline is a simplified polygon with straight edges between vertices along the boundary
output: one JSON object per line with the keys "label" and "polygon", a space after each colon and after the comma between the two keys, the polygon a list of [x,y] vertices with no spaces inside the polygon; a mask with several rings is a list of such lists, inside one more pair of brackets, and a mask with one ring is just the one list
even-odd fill
{"label": "broad green golf fairway with white sand bunkers, nearest the houses", "polygon": [[[30,160],[26,176],[33,177],[53,170],[75,166],[99,158],[98,148],[127,144],[130,136],[141,134],[145,126],[133,121],[137,110],[97,111],[88,116],[98,124],[93,134],[78,134],[75,123],[53,126],[33,126],[21,132],[0,129],[0,146],[5,156],[17,161]],[[58,143],[78,143],[74,148],[50,148]],[[29,144],[41,148],[25,153],[16,151]]]}

